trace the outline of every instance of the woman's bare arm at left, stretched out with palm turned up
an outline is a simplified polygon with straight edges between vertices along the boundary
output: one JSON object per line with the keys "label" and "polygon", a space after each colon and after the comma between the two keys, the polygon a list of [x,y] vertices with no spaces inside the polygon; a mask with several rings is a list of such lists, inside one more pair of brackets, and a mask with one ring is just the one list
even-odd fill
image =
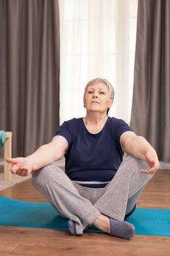
{"label": "woman's bare arm at left, stretched out with palm turned up", "polygon": [[11,172],[20,176],[27,176],[34,170],[50,165],[66,153],[68,143],[62,136],[56,136],[45,145],[40,146],[28,157],[7,158],[6,161],[12,164]]}

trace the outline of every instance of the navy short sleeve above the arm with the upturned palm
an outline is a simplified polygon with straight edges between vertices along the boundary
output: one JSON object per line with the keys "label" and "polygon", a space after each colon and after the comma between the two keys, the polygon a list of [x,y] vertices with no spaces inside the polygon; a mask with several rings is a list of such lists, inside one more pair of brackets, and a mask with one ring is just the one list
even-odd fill
{"label": "navy short sleeve above the arm with the upturned palm", "polygon": [[55,136],[57,135],[63,136],[67,140],[69,146],[72,144],[74,134],[70,125],[68,124],[68,121],[64,121],[63,124],[61,124],[58,131],[55,132]]}

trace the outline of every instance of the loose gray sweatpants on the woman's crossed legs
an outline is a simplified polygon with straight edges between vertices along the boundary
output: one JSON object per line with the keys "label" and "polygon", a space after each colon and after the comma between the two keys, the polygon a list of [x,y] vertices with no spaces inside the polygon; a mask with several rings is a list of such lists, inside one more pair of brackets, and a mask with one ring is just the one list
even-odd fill
{"label": "loose gray sweatpants on the woman's crossed legs", "polygon": [[32,173],[32,183],[63,217],[76,222],[77,233],[81,234],[100,214],[124,219],[152,178],[150,174],[140,173],[142,168],[147,168],[147,164],[129,155],[112,181],[96,189],[71,181],[54,162]]}

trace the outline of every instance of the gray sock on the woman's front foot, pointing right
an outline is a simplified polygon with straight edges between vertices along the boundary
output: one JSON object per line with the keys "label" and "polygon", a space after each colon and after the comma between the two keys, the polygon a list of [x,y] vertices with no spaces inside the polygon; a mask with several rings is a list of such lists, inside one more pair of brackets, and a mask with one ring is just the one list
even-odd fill
{"label": "gray sock on the woman's front foot, pointing right", "polygon": [[121,222],[116,219],[109,218],[110,235],[120,238],[131,239],[134,236],[134,225],[129,222]]}

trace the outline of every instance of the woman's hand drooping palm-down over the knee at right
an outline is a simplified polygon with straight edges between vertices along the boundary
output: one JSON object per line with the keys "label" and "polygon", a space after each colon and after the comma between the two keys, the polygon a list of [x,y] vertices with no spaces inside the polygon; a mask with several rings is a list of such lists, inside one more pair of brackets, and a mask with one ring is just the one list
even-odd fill
{"label": "woman's hand drooping palm-down over the knee at right", "polygon": [[148,169],[142,169],[140,170],[141,173],[147,173],[147,174],[153,174],[156,173],[157,170],[160,167],[160,162],[158,160],[158,156],[152,148],[147,151],[147,153],[144,155],[144,161],[147,163],[149,166]]}

